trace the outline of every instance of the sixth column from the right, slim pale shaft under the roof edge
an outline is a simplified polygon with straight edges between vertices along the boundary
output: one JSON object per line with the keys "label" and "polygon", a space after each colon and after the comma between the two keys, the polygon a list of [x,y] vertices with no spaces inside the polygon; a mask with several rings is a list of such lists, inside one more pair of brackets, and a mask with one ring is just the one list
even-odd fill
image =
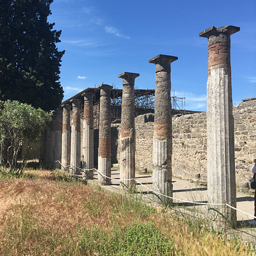
{"label": "sixth column from the right, slim pale shaft under the roof edge", "polygon": [[80,173],[81,168],[81,100],[73,99],[71,119],[71,148],[70,148],[70,173]]}

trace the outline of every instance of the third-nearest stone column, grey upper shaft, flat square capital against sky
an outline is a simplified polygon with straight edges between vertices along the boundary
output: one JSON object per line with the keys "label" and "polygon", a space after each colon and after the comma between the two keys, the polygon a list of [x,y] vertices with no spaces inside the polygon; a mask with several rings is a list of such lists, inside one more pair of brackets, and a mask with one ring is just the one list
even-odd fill
{"label": "third-nearest stone column, grey upper shaft, flat square capital against sky", "polygon": [[132,189],[135,184],[135,127],[134,127],[134,80],[140,74],[124,72],[118,77],[123,79],[122,115],[120,137],[120,184]]}

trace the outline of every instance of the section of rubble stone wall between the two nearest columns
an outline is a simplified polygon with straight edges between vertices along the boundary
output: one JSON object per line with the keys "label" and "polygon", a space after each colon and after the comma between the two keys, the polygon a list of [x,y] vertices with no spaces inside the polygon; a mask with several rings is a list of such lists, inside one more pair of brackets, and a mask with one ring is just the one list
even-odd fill
{"label": "section of rubble stone wall between the two nearest columns", "polygon": [[206,113],[173,116],[172,173],[192,179],[206,175]]}

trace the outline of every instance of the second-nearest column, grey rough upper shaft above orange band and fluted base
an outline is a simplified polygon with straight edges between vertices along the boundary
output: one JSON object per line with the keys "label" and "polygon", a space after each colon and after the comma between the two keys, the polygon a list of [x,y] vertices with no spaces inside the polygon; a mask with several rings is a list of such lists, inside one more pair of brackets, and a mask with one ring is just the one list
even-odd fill
{"label": "second-nearest column, grey rough upper shaft above orange band and fluted base", "polygon": [[[157,55],[149,60],[156,64],[155,115],[153,138],[153,188],[157,193],[171,196],[172,189],[172,105],[171,63],[177,57]],[[172,199],[155,194],[156,201],[172,204]]]}

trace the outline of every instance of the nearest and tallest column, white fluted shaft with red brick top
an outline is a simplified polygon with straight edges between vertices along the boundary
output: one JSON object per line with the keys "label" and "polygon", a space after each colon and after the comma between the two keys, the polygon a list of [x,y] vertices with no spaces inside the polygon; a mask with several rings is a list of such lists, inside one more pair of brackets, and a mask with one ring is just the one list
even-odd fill
{"label": "nearest and tallest column, white fluted shaft with red brick top", "polygon": [[[240,28],[225,26],[201,32],[208,38],[207,81],[207,191],[210,204],[236,207],[236,172],[234,157],[234,116],[230,66],[230,35]],[[218,214],[218,212],[220,214]],[[210,206],[212,220],[220,223],[224,215],[221,205]],[[236,225],[236,211],[227,207],[227,219]]]}

